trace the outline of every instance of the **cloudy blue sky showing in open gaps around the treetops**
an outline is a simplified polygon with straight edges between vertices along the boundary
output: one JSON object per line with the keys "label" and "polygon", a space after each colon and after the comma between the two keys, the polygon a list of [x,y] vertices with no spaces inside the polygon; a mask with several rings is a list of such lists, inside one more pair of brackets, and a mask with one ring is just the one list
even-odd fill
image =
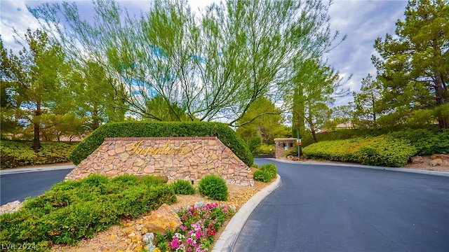
{"label": "cloudy blue sky showing in open gaps around the treetops", "polygon": [[[117,1],[117,0],[116,0]],[[140,9],[148,10],[149,1],[145,0],[118,0],[132,13],[140,13]],[[14,43],[14,32],[25,34],[27,28],[32,30],[39,27],[37,21],[28,12],[26,5],[37,6],[46,1],[1,0],[0,1],[0,34],[4,46],[9,50],[18,52],[21,47]],[[51,2],[55,2],[54,0]],[[89,13],[91,1],[79,2],[81,13]],[[213,0],[189,0],[192,9],[196,10],[212,3]],[[330,28],[347,35],[347,39],[325,55],[328,63],[340,76],[347,77],[352,74],[344,88],[351,92],[359,92],[362,78],[368,73],[375,76],[376,70],[371,62],[371,55],[376,55],[373,48],[377,37],[385,34],[394,34],[396,21],[404,19],[407,1],[405,0],[334,0],[330,6]],[[85,11],[83,11],[85,8]],[[351,102],[352,95],[337,98],[335,105],[344,105]]]}

